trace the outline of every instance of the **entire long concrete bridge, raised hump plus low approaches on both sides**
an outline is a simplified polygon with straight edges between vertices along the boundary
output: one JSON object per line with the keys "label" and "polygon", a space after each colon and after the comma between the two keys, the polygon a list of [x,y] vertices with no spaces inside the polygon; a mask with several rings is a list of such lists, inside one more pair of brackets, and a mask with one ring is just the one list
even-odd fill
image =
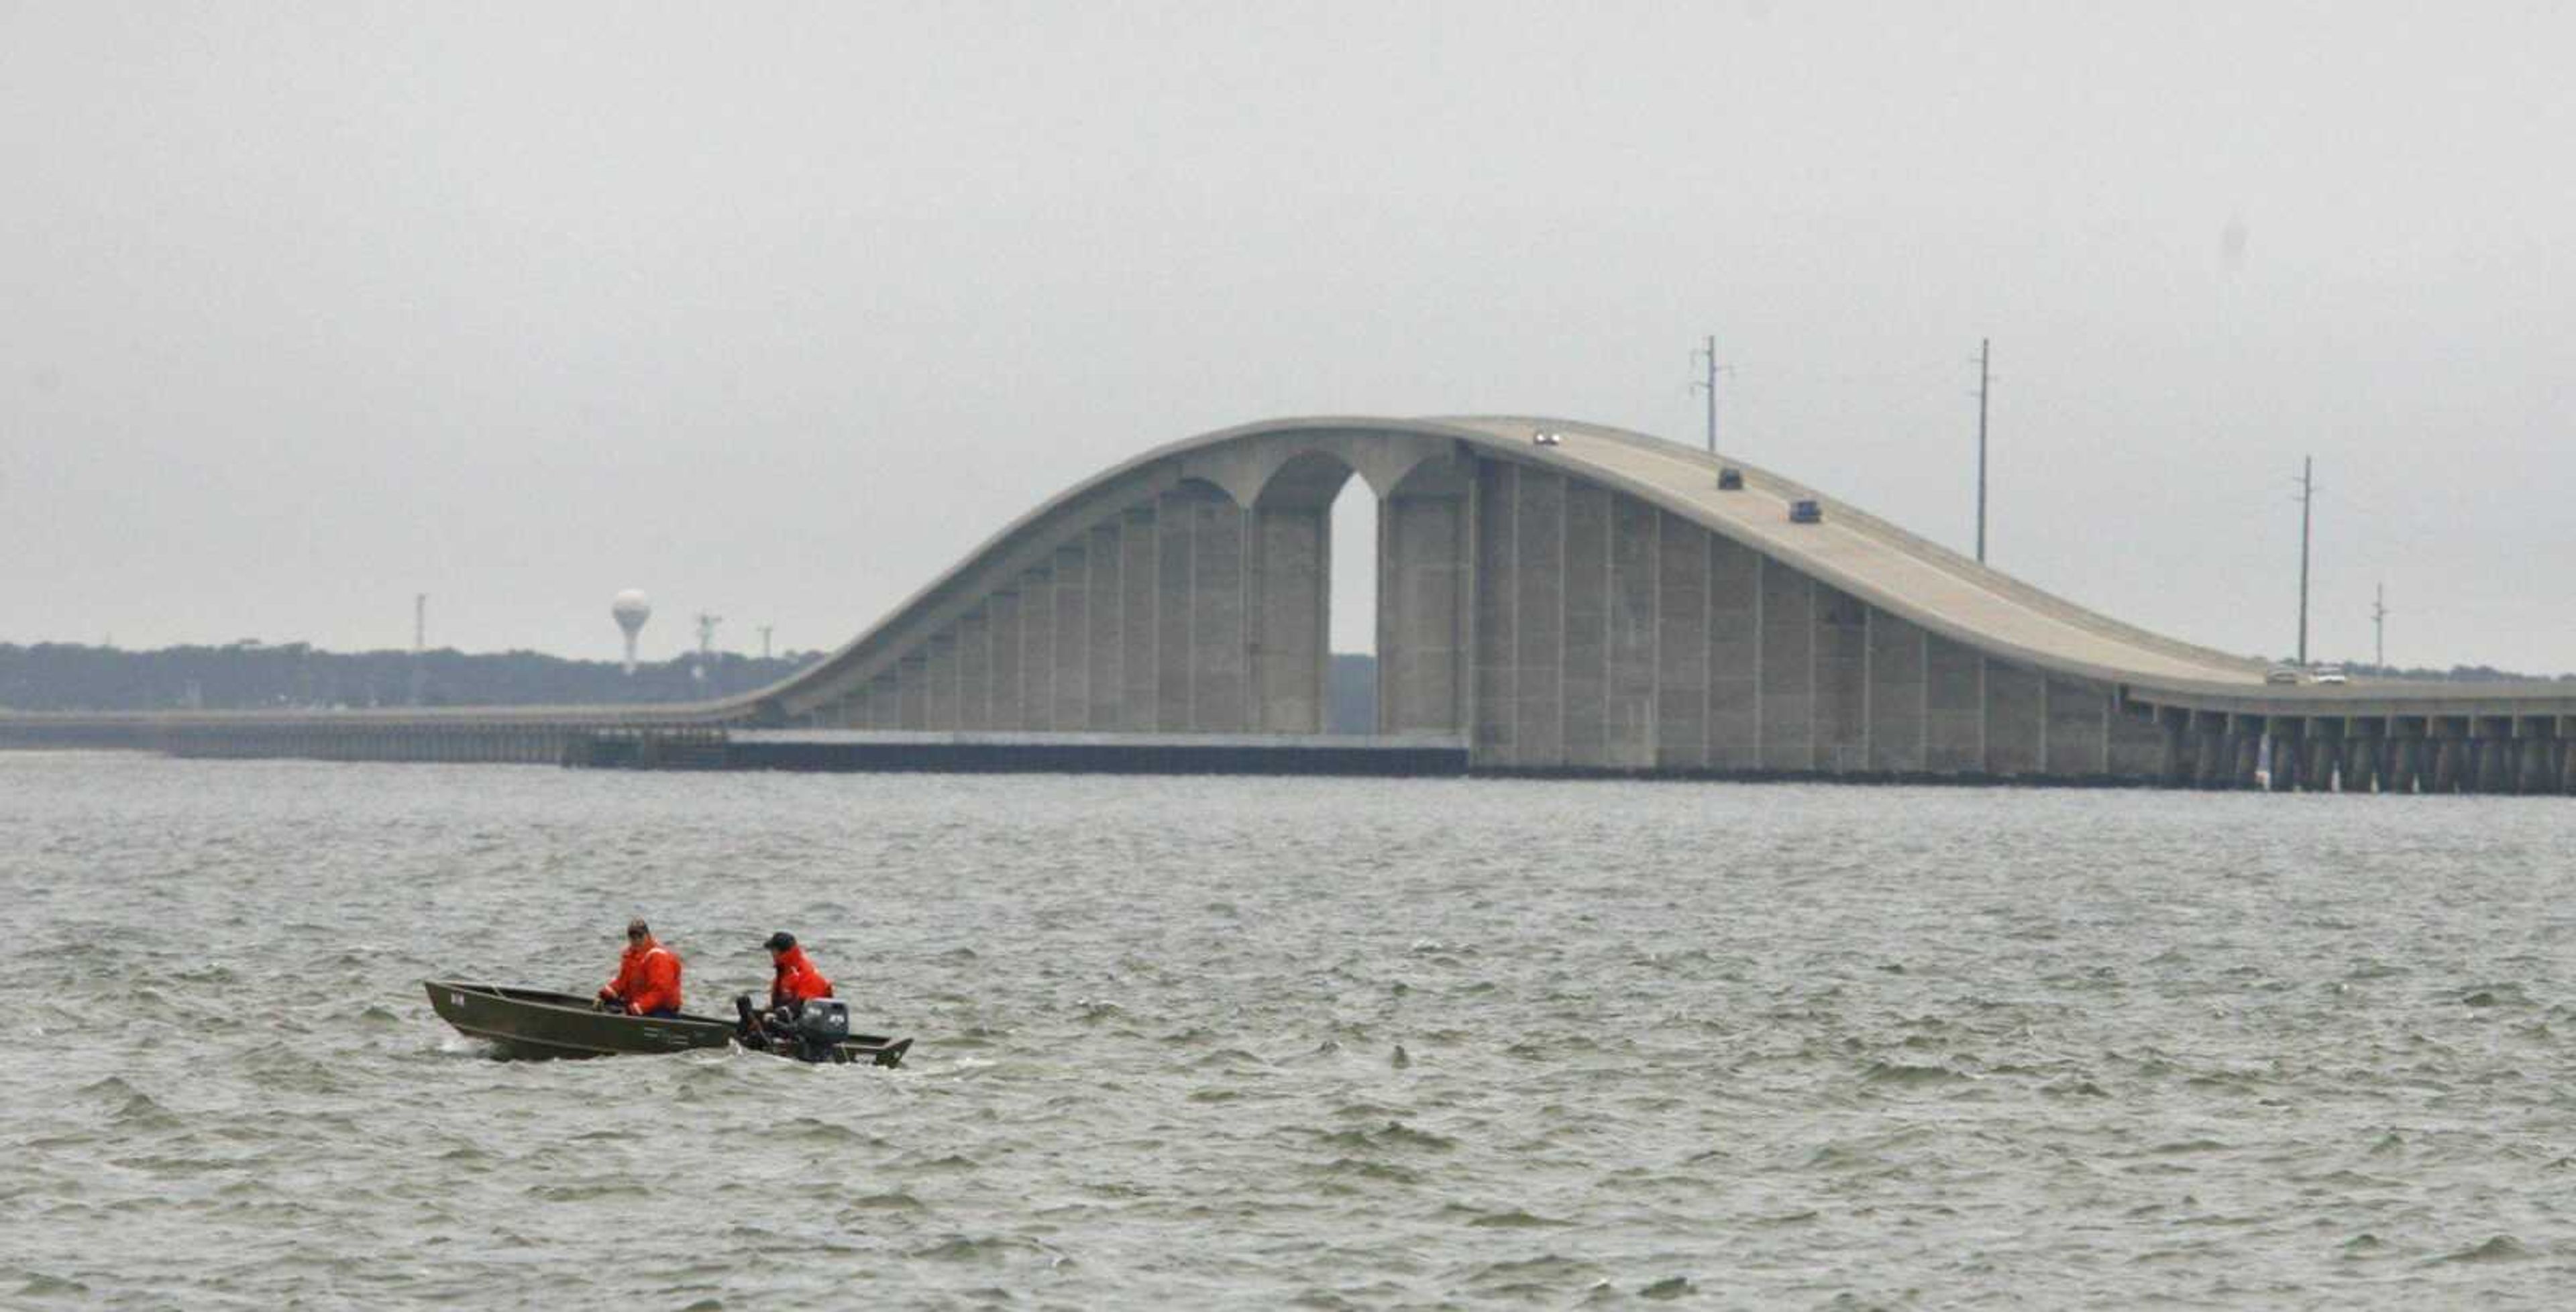
{"label": "entire long concrete bridge, raised hump plus low approaches on both sides", "polygon": [[[1721,487],[1721,467],[1741,487]],[[716,742],[732,763],[801,768],[1195,750],[1260,768],[1311,753],[1324,727],[1327,528],[1352,477],[1378,497],[1378,737],[1342,740],[1345,755],[2576,791],[2576,686],[2272,686],[2262,660],[2120,624],[1772,472],[1535,418],[1275,420],[1146,451],[1012,521],[824,662],[732,701],[0,717],[0,742],[358,758],[443,742],[471,758],[489,737],[497,758],[549,760]],[[1821,523],[1793,523],[1795,500]]]}

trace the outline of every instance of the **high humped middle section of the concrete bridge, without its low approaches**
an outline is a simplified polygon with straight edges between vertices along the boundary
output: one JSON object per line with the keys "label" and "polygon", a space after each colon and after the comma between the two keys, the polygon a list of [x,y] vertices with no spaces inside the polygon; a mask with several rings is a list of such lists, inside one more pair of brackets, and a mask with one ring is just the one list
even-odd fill
{"label": "high humped middle section of the concrete bridge, without its low approaches", "polygon": [[[1378,727],[1489,768],[2117,773],[2123,688],[2259,683],[1857,508],[1613,428],[1278,420],[1146,451],[1005,526],[773,724],[1311,735],[1332,497],[1378,500]],[[2169,735],[2166,735],[2169,737]]]}

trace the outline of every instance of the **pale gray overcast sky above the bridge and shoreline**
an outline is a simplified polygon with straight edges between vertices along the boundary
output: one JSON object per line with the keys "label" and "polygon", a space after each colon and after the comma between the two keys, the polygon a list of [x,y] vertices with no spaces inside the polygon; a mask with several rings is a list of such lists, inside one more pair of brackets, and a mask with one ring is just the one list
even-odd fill
{"label": "pale gray overcast sky above the bridge and shoreline", "polygon": [[[1726,449],[2177,637],[2576,670],[2576,8],[0,0],[0,642],[829,647],[1301,412]],[[1342,647],[1365,632],[1350,593]]]}

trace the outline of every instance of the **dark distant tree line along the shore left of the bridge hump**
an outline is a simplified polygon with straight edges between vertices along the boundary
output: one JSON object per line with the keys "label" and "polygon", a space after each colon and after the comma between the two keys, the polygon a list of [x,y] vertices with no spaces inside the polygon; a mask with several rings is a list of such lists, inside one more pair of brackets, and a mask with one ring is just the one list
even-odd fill
{"label": "dark distant tree line along the shore left of the bridge hump", "polygon": [[0,706],[13,711],[247,711],[276,706],[582,706],[698,701],[778,683],[822,652],[747,657],[714,652],[639,662],[564,660],[544,652],[322,652],[304,642],[162,647],[126,652],[0,642]]}

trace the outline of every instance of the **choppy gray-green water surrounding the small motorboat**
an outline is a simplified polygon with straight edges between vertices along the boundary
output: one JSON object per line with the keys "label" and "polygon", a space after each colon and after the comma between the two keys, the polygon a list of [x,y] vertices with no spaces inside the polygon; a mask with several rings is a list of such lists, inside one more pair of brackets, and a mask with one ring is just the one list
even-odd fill
{"label": "choppy gray-green water surrounding the small motorboat", "polygon": [[[2421,1307],[2576,1273],[2576,804],[0,753],[0,1304]],[[907,1070],[497,1062],[793,928]]]}

